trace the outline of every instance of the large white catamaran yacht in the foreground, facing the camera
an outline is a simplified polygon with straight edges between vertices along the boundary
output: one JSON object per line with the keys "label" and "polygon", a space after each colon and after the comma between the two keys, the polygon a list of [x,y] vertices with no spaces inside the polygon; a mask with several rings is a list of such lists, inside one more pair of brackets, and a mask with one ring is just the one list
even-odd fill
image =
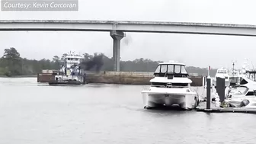
{"label": "large white catamaran yacht in the foreground, facing the camera", "polygon": [[162,62],[150,80],[151,86],[142,91],[145,108],[179,105],[183,109],[197,106],[198,94],[191,91],[192,81],[187,78],[185,64],[179,62]]}

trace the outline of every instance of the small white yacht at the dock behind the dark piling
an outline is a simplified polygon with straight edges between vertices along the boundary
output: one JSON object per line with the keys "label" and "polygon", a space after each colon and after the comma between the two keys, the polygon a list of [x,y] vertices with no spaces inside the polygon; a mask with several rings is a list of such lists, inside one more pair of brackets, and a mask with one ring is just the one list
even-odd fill
{"label": "small white yacht at the dock behind the dark piling", "polygon": [[213,85],[215,85],[215,86],[216,86],[217,78],[225,78],[225,86],[228,87],[230,85],[228,69],[225,69],[225,68],[217,69],[215,78],[213,78]]}

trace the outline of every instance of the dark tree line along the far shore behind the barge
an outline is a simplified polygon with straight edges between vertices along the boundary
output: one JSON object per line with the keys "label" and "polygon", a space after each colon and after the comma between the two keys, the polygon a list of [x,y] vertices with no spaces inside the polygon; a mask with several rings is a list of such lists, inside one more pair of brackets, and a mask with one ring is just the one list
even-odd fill
{"label": "dark tree line along the far shore behind the barge", "polygon": [[[42,69],[60,69],[63,59],[67,53],[62,56],[53,56],[53,59],[26,59],[22,58],[14,47],[4,50],[0,58],[0,75],[37,75]],[[133,61],[120,61],[120,71],[123,72],[155,72],[158,63],[161,61],[152,61],[151,59],[135,59]],[[88,71],[113,71],[113,59],[105,56],[103,53],[94,53],[93,55],[84,53],[82,60],[82,69]],[[208,69],[187,66],[187,72],[207,75]],[[211,76],[216,74],[216,69],[211,69]]]}

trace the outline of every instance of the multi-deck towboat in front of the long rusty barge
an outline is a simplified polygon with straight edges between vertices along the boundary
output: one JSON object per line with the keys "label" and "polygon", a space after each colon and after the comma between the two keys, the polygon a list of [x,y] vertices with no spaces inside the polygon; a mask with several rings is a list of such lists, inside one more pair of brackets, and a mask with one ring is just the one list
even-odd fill
{"label": "multi-deck towboat in front of the long rusty barge", "polygon": [[81,62],[82,56],[75,52],[69,53],[64,58],[64,64],[59,70],[59,74],[55,75],[49,85],[85,85],[85,73],[81,69]]}

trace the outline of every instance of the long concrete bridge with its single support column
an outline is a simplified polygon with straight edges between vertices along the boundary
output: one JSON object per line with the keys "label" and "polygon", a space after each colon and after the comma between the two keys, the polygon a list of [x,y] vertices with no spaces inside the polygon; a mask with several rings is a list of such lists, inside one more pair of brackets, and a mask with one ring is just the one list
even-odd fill
{"label": "long concrete bridge with its single support column", "polygon": [[14,20],[0,21],[0,31],[107,31],[113,38],[114,71],[120,71],[120,40],[123,32],[214,34],[232,36],[256,36],[256,25],[208,24],[154,21],[59,21],[59,20]]}

